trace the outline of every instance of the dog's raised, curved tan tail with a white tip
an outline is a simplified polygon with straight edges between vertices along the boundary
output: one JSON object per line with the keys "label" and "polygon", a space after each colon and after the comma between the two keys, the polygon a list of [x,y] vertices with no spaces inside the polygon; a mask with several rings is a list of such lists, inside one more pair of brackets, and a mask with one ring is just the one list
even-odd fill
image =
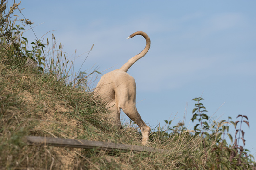
{"label": "dog's raised, curved tan tail with a white tip", "polygon": [[150,44],[151,44],[151,41],[150,41],[150,38],[148,37],[148,35],[145,33],[145,32],[142,32],[142,31],[138,31],[138,32],[135,32],[133,33],[132,35],[130,35],[127,39],[129,38],[133,38],[135,35],[142,35],[145,39],[146,39],[146,47],[144,48],[143,51],[141,51],[141,53],[137,54],[136,56],[132,57],[131,59],[128,60],[128,62],[126,62],[120,69],[118,70],[121,70],[121,71],[124,71],[124,72],[127,72],[128,69],[136,62],[138,61],[140,58],[144,57],[149,48],[150,48]]}

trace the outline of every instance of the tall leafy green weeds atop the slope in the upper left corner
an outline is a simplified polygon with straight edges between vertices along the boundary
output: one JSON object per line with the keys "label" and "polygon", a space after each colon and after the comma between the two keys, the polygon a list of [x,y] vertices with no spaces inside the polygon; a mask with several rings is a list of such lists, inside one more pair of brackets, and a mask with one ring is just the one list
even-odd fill
{"label": "tall leafy green weeds atop the slope in the upper left corner", "polygon": [[13,56],[18,58],[20,65],[31,59],[37,64],[39,64],[39,69],[43,70],[44,57],[42,57],[44,44],[40,40],[35,40],[32,42],[32,50],[28,50],[28,40],[23,37],[23,32],[25,29],[17,25],[19,22],[23,26],[33,24],[28,19],[17,19],[14,21],[10,20],[12,13],[18,9],[20,3],[13,3],[13,6],[10,7],[10,10],[7,12],[7,0],[1,0],[0,5],[0,57]]}

